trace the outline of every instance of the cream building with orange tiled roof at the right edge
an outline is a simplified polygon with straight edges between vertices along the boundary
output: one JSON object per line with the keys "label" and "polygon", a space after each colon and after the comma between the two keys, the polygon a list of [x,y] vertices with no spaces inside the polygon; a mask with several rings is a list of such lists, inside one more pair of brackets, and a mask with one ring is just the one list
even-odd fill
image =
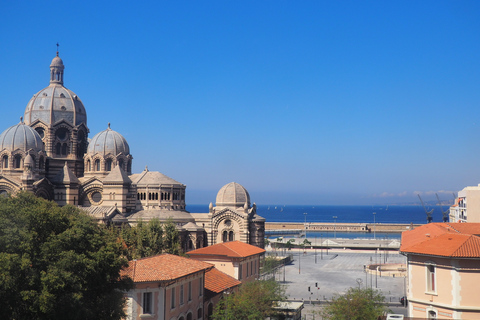
{"label": "cream building with orange tiled roof at the right edge", "polygon": [[402,233],[408,315],[480,319],[480,223],[429,223]]}

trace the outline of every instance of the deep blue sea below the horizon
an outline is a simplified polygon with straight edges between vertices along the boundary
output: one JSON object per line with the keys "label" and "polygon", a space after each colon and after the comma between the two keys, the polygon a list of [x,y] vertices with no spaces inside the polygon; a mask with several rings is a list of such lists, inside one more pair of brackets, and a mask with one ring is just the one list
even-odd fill
{"label": "deep blue sea below the horizon", "polygon": [[[433,209],[432,222],[442,222],[443,212],[449,206],[427,207]],[[207,213],[208,205],[187,205],[192,213]],[[416,205],[384,205],[384,206],[335,206],[335,205],[257,205],[257,214],[267,222],[329,222],[329,223],[399,223],[425,224],[427,215],[422,206]],[[307,232],[307,237],[319,236],[316,232]],[[324,236],[333,236],[324,232]],[[352,238],[358,234],[336,232],[335,237]],[[400,234],[362,234],[362,237],[400,237]]]}

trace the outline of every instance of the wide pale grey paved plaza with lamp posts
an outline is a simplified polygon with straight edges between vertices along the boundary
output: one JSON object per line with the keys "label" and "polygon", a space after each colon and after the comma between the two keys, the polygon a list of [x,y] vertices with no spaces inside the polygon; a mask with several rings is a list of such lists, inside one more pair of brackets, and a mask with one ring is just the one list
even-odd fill
{"label": "wide pale grey paved plaza with lamp posts", "polygon": [[[277,251],[278,254],[283,253]],[[267,254],[275,254],[268,251]],[[387,264],[405,264],[406,257],[396,251],[375,254],[375,250],[303,250],[292,249],[293,262],[285,268],[279,268],[276,279],[283,282],[285,278],[286,294],[290,301],[304,301],[302,314],[306,319],[314,319],[312,310],[318,309],[334,295],[344,293],[350,287],[367,285],[381,290],[394,313],[406,314],[400,307],[399,299],[405,295],[404,277],[386,277],[365,272],[364,266],[386,262]],[[299,255],[300,254],[300,255]],[[318,318],[317,316],[317,319]]]}

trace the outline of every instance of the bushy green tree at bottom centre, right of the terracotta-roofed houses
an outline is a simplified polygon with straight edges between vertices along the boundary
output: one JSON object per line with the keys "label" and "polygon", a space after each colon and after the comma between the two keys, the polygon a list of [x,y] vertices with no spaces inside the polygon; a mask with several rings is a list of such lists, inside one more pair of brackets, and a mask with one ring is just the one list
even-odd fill
{"label": "bushy green tree at bottom centre, right of the terracotta-roofed houses", "polygon": [[285,299],[283,287],[274,280],[257,280],[242,284],[217,304],[212,318],[215,320],[265,319],[275,314],[275,306]]}

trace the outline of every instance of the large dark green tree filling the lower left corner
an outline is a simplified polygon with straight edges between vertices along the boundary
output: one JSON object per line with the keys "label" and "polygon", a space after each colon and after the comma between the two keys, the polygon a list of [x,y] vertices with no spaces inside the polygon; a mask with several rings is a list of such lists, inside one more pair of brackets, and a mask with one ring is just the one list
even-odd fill
{"label": "large dark green tree filling the lower left corner", "polygon": [[120,319],[117,236],[72,206],[0,197],[0,319]]}

